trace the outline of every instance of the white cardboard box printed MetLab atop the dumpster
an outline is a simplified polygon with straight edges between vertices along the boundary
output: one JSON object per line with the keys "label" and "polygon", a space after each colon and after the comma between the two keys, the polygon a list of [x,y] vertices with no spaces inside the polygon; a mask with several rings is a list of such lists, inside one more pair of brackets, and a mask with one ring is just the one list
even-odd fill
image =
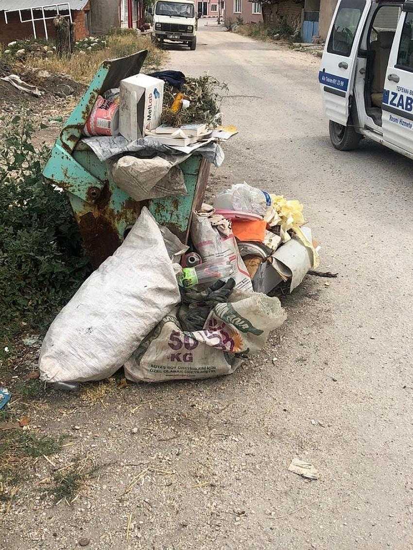
{"label": "white cardboard box printed MetLab atop the dumpster", "polygon": [[143,138],[161,122],[164,81],[146,74],[121,80],[119,132],[130,141]]}

